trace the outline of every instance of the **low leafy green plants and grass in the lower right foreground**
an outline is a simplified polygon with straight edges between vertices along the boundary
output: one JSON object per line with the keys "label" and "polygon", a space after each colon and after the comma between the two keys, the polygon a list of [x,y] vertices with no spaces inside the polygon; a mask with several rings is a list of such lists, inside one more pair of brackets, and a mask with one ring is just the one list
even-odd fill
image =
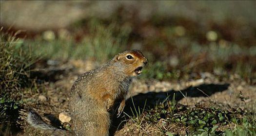
{"label": "low leafy green plants and grass in the lower right foreground", "polygon": [[[143,112],[140,113],[135,108],[132,111],[133,116],[129,118],[139,126],[139,130],[143,129],[143,135],[160,133],[162,136],[255,136],[256,134],[255,109],[190,107],[178,104],[174,99],[172,101],[168,99],[153,108],[144,107],[142,110]],[[147,134],[150,130],[145,128],[150,128],[149,126],[152,125],[156,126],[157,130],[155,133]],[[172,125],[176,127],[168,127]]]}

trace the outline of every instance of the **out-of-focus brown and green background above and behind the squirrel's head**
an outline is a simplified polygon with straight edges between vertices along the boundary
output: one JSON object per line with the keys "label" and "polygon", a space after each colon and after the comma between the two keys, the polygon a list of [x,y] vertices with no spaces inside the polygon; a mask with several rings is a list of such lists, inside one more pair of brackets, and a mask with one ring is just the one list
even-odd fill
{"label": "out-of-focus brown and green background above and behind the squirrel's head", "polygon": [[150,78],[209,71],[256,82],[256,1],[1,0],[0,17],[3,31],[20,30],[48,58],[102,63],[138,49]]}

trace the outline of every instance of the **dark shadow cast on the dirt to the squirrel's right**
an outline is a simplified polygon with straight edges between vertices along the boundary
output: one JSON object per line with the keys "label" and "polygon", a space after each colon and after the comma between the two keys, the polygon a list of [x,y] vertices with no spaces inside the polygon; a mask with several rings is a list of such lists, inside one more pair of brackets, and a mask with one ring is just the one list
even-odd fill
{"label": "dark shadow cast on the dirt to the squirrel's right", "polygon": [[[216,85],[216,84],[202,84],[195,87],[188,87],[181,91],[169,90],[162,92],[148,92],[145,94],[138,94],[129,98],[126,101],[126,106],[124,108],[124,112],[129,116],[133,116],[131,112],[131,108],[134,111],[134,107],[143,108],[146,102],[145,110],[150,109],[155,106],[159,102],[163,102],[166,99],[172,100],[175,95],[175,100],[179,101],[184,96],[187,97],[209,97],[217,92],[222,92],[228,89],[229,84]],[[184,96],[183,96],[184,95]],[[134,105],[135,106],[134,106]],[[118,105],[117,105],[118,106]],[[138,111],[138,110],[137,110]],[[142,110],[140,110],[142,111]],[[117,130],[120,130],[126,121],[125,118],[117,118],[116,116],[112,117],[112,127],[110,128],[110,136],[113,136]],[[121,123],[122,122],[122,123]],[[121,124],[120,124],[121,123]]]}

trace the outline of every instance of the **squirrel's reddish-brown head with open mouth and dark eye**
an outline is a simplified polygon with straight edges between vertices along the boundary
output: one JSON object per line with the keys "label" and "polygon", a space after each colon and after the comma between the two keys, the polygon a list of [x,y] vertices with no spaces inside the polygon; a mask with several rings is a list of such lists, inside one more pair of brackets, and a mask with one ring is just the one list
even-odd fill
{"label": "squirrel's reddish-brown head with open mouth and dark eye", "polygon": [[120,64],[121,70],[128,76],[139,75],[148,62],[147,58],[138,50],[120,52],[112,60]]}

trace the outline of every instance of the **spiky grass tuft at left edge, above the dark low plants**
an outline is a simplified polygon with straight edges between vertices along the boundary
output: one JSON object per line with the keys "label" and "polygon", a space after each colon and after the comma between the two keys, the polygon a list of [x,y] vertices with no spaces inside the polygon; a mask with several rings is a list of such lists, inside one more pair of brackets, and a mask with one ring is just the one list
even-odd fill
{"label": "spiky grass tuft at left edge, above the dark low plants", "polygon": [[20,87],[28,84],[30,67],[36,62],[30,52],[21,49],[22,43],[10,34],[1,33],[1,66],[0,86],[7,91],[18,91]]}

